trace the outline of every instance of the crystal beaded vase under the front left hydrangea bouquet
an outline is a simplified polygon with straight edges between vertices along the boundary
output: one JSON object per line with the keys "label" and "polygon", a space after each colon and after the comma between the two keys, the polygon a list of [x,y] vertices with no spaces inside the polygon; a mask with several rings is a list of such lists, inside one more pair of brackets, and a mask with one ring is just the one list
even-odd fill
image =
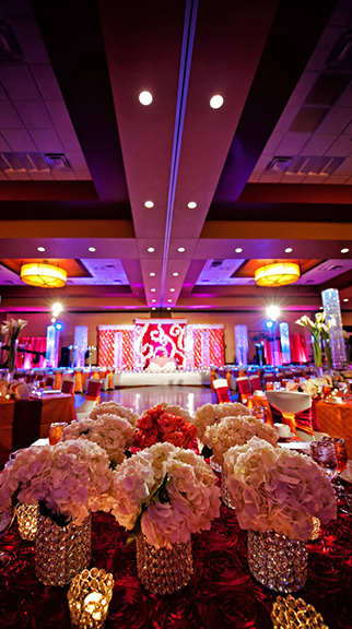
{"label": "crystal beaded vase under the front left hydrangea bouquet", "polygon": [[66,585],[91,561],[92,518],[80,526],[58,526],[39,515],[35,543],[35,573],[44,585]]}

